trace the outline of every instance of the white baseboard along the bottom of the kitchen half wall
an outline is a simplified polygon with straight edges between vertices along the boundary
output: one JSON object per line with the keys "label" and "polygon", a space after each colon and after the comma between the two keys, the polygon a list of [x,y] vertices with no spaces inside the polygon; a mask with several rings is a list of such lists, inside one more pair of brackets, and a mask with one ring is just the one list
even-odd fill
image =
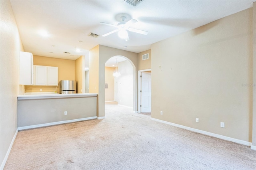
{"label": "white baseboard along the bottom of the kitchen half wall", "polygon": [[81,118],[81,119],[72,119],[72,120],[68,120],[68,121],[59,121],[59,122],[44,123],[44,124],[39,124],[39,125],[31,125],[31,126],[26,126],[26,127],[18,127],[18,130],[38,128],[38,127],[48,127],[48,126],[52,126],[52,125],[59,125],[59,124],[64,124],[64,123],[86,121],[86,120],[91,120],[91,119],[96,119],[96,118],[97,117],[94,116],[94,117],[86,117],[86,118]]}

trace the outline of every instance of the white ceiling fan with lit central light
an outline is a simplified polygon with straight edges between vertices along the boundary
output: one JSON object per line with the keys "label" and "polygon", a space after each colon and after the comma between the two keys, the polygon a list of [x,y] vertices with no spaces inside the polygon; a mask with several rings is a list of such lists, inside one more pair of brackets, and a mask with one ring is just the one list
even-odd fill
{"label": "white ceiling fan with lit central light", "polygon": [[114,32],[118,32],[118,36],[120,38],[124,39],[125,41],[128,41],[130,39],[129,39],[127,30],[130,31],[130,32],[136,32],[138,34],[148,35],[147,31],[138,30],[138,29],[135,29],[135,28],[130,28],[130,26],[132,24],[135,24],[136,22],[138,22],[137,20],[130,19],[127,22],[125,22],[125,20],[126,20],[126,17],[122,16],[121,17],[122,22],[119,22],[117,25],[108,24],[108,23],[105,23],[105,22],[100,22],[100,24],[104,24],[104,25],[107,25],[107,26],[113,26],[113,27],[117,28],[116,30],[114,30],[112,32],[109,32],[107,34],[102,35],[102,37],[106,37],[110,34],[113,34]]}

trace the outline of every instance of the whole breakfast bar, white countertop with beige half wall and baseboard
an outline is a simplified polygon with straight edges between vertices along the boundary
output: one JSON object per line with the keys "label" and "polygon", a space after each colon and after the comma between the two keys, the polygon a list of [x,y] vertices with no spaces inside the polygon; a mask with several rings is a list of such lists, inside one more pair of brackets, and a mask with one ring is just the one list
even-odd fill
{"label": "whole breakfast bar, white countertop with beige half wall and baseboard", "polygon": [[19,130],[96,119],[97,93],[18,95]]}

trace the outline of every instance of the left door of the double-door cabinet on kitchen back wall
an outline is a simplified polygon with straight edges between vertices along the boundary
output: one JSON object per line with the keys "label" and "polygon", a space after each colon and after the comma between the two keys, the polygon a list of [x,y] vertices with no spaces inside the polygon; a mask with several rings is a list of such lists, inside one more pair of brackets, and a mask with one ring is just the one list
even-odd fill
{"label": "left door of the double-door cabinet on kitchen back wall", "polygon": [[47,85],[47,67],[35,65],[36,68],[36,80],[35,85]]}

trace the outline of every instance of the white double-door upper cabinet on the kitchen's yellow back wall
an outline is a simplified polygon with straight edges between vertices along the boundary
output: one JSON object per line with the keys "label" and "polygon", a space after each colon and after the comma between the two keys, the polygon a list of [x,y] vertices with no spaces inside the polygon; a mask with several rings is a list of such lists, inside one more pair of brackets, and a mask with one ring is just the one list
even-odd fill
{"label": "white double-door upper cabinet on the kitchen's yellow back wall", "polygon": [[58,85],[58,67],[34,65],[35,85]]}

